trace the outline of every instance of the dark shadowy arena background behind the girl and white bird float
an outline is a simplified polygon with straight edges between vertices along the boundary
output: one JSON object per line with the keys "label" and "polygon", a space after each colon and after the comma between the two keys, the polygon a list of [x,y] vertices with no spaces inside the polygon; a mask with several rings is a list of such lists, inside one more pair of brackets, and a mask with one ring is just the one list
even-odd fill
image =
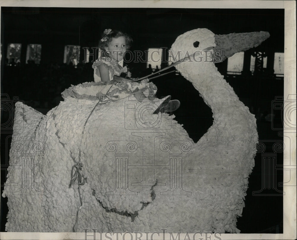
{"label": "dark shadowy arena background behind the girl and white bird float", "polygon": [[[104,29],[118,29],[133,38],[130,50],[170,48],[176,37],[196,28],[207,28],[215,34],[268,31],[270,38],[245,53],[241,75],[227,74],[227,60],[217,64],[218,70],[236,94],[255,114],[259,140],[265,141],[266,153],[274,153],[273,143],[282,140],[281,110],[271,108],[276,97],[283,96],[283,78],[273,73],[274,53],[284,52],[283,9],[153,9],[153,8],[26,8],[1,7],[1,103],[10,101],[11,109],[1,107],[1,193],[6,181],[8,153],[12,135],[14,97],[46,114],[62,101],[61,92],[70,84],[94,81],[92,62],[76,68],[63,64],[64,46],[96,47]],[[4,62],[9,43],[21,43],[21,63],[7,66]],[[27,44],[41,44],[39,65],[26,64]],[[250,55],[265,51],[267,68],[249,72]],[[90,56],[90,61],[95,60]],[[166,65],[166,52],[164,62]],[[146,63],[129,63],[133,77],[146,75]],[[192,84],[179,74],[168,74],[153,82],[158,97],[171,95],[181,107],[174,112],[189,136],[197,142],[212,125],[210,108],[199,97]],[[282,100],[278,100],[282,104]],[[2,105],[1,105],[2,106]],[[275,114],[272,119],[269,114]],[[266,118],[265,118],[266,117]],[[11,124],[7,124],[11,123]],[[278,130],[277,130],[278,129]],[[271,140],[266,141],[266,140]],[[258,153],[249,178],[249,188],[242,217],[237,228],[241,233],[282,233],[282,153],[277,154],[274,175],[276,188],[262,189],[262,157]],[[260,191],[260,195],[254,195]],[[279,192],[280,191],[280,192]],[[1,231],[5,231],[7,198],[1,196]]]}

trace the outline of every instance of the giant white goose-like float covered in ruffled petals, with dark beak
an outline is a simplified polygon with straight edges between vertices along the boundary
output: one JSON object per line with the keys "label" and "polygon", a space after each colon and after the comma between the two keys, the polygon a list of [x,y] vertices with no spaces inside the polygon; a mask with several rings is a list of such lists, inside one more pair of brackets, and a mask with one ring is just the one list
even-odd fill
{"label": "giant white goose-like float covered in ruffled petals, with dark beak", "polygon": [[213,112],[213,125],[197,143],[174,115],[152,115],[151,103],[133,98],[136,90],[155,91],[152,83],[71,86],[46,115],[17,102],[3,192],[6,230],[239,233],[256,119],[214,61],[268,37],[208,29],[177,37],[173,56],[189,57],[176,69]]}

